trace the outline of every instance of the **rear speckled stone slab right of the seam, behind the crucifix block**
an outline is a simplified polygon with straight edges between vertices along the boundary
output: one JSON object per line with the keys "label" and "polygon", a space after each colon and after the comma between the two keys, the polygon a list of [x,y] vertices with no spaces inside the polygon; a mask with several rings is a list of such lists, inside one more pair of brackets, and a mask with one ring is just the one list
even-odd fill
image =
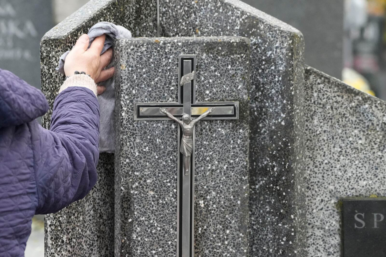
{"label": "rear speckled stone slab right of the seam, behind the crucifix block", "polygon": [[[295,176],[295,91],[304,82],[303,35],[238,0],[161,1],[165,36],[251,40],[250,256],[305,249],[303,191]],[[299,238],[300,240],[297,240]]]}

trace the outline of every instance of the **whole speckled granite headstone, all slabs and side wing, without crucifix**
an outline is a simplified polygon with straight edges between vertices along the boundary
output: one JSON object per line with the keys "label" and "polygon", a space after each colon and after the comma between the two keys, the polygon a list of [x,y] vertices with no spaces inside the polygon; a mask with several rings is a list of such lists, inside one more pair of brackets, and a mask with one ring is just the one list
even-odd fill
{"label": "whole speckled granite headstone, all slabs and side wing, without crucifix", "polygon": [[[126,26],[134,37],[154,37],[156,6],[156,0],[93,0],[48,32],[41,58],[50,104],[61,84],[57,60],[81,32],[106,20]],[[161,36],[196,38],[119,42],[115,196],[112,156],[102,155],[100,177],[106,182],[46,218],[46,254],[111,256],[115,245],[116,256],[175,256],[176,125],[134,122],[130,112],[134,101],[176,101],[178,54],[195,50],[197,100],[244,102],[248,116],[196,127],[197,256],[339,257],[339,198],[384,196],[386,190],[386,104],[312,68],[305,72],[301,32],[238,0],[160,0],[159,14]],[[216,42],[218,36],[249,39],[250,58],[241,58],[245,41]],[[231,40],[240,47],[217,49]],[[239,69],[230,66],[235,77],[207,78],[225,74],[223,64],[232,60],[239,63]],[[237,84],[247,66],[250,81],[240,89],[216,84]],[[227,141],[218,147],[220,136],[239,138],[240,145]],[[227,158],[213,158],[215,151]],[[227,169],[234,168],[241,172],[229,176]]]}

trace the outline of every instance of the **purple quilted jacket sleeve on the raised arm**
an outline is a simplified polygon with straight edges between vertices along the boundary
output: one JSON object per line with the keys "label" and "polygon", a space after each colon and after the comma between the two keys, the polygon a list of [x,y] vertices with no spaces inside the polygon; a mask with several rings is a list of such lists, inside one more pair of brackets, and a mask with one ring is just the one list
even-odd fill
{"label": "purple quilted jacket sleeve on the raised arm", "polygon": [[54,102],[51,129],[33,137],[37,214],[80,200],[97,182],[99,105],[85,87],[68,87]]}

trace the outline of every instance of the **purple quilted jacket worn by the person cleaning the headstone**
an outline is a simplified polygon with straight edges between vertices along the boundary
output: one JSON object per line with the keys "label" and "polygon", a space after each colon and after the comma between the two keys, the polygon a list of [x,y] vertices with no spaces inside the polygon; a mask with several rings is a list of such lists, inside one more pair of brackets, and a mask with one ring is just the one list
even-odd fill
{"label": "purple quilted jacket worn by the person cleaning the headstone", "polygon": [[47,110],[39,90],[0,69],[0,257],[23,257],[32,216],[58,212],[97,182],[97,97],[62,91],[50,130],[35,120]]}

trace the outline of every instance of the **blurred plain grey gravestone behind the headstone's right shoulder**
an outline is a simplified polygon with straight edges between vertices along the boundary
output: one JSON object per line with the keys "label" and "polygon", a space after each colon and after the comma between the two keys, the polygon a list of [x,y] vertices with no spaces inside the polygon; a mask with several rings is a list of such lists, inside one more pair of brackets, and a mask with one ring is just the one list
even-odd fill
{"label": "blurred plain grey gravestone behind the headstone's right shoulder", "polygon": [[242,0],[300,30],[305,62],[333,77],[342,77],[344,1]]}

